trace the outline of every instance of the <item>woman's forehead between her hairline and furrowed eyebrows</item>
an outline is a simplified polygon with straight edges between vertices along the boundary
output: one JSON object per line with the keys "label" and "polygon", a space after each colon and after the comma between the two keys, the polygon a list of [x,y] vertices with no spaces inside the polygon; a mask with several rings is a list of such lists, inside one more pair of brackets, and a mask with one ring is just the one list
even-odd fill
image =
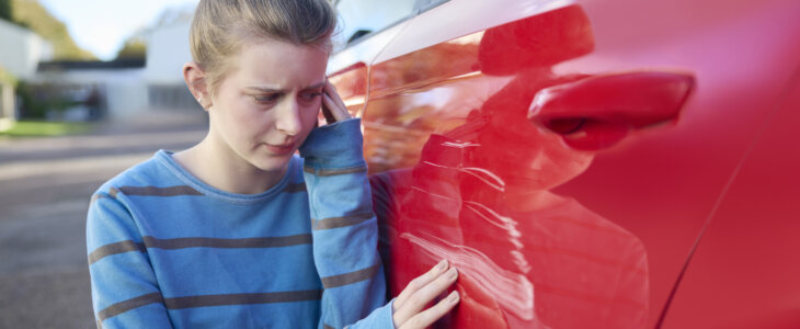
{"label": "woman's forehead between her hairline and furrowed eyebrows", "polygon": [[328,52],[272,38],[245,42],[231,58],[240,82],[304,87],[319,83],[328,67]]}

